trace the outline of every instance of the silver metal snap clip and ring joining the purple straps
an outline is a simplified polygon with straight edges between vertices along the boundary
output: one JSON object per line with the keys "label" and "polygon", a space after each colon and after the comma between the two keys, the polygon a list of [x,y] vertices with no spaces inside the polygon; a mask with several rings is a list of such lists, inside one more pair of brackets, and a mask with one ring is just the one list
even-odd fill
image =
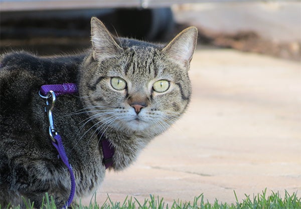
{"label": "silver metal snap clip and ring joining the purple straps", "polygon": [[46,96],[41,95],[41,93],[39,92],[40,96],[42,98],[46,99],[46,107],[45,107],[45,111],[47,113],[48,116],[48,123],[49,123],[49,135],[51,140],[53,140],[54,142],[56,142],[56,139],[54,138],[55,135],[57,135],[58,133],[55,130],[55,126],[54,126],[54,121],[53,121],[53,116],[52,116],[52,110],[54,108],[54,104],[56,101],[56,97],[55,97],[55,93],[53,90],[50,90]]}

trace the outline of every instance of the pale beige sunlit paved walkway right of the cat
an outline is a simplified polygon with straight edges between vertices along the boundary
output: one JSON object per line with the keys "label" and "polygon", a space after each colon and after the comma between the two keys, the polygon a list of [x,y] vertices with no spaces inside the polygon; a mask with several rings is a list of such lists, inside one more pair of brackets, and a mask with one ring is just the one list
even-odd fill
{"label": "pale beige sunlit paved walkway right of the cat", "polygon": [[[122,172],[107,172],[101,204],[149,194],[235,202],[267,188],[301,192],[301,63],[198,49],[186,114]],[[83,202],[88,203],[89,198]]]}

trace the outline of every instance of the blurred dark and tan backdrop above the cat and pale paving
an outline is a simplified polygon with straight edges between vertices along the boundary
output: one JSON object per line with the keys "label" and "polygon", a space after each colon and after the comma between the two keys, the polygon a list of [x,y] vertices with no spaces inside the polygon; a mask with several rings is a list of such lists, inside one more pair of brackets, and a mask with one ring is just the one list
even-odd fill
{"label": "blurred dark and tan backdrop above the cat and pale paving", "polygon": [[90,45],[89,21],[97,16],[119,36],[164,42],[195,25],[199,44],[301,57],[298,0],[1,0],[0,5],[1,52],[80,51]]}

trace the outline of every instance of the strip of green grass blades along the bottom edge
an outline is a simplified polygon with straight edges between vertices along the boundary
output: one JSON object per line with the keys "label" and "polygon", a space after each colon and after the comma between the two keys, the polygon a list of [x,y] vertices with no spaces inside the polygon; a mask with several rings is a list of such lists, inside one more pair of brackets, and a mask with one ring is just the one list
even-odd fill
{"label": "strip of green grass blades along the bottom edge", "polygon": [[[239,201],[237,195],[234,191],[234,195],[236,198],[235,203],[222,203],[217,199],[214,203],[209,203],[208,200],[204,200],[205,197],[203,194],[194,198],[191,201],[181,201],[174,200],[172,204],[168,204],[164,202],[164,198],[155,197],[150,195],[148,199],[144,199],[144,202],[139,202],[135,197],[126,197],[123,202],[113,202],[108,196],[106,201],[102,204],[98,204],[96,202],[95,195],[91,199],[89,205],[82,205],[81,202],[78,203],[78,206],[73,207],[74,209],[107,209],[107,208],[122,208],[122,209],[134,209],[134,208],[142,208],[142,209],[157,209],[157,208],[165,208],[165,209],[191,209],[191,208],[200,208],[200,209],[244,209],[244,208],[289,208],[289,209],[301,209],[301,198],[297,197],[296,193],[292,193],[291,195],[285,191],[284,197],[281,197],[278,192],[272,192],[271,195],[266,195],[266,189],[262,191],[261,194],[250,195],[245,194],[245,198],[242,201]],[[25,202],[26,208],[34,208],[33,203]],[[54,200],[52,197],[48,197],[45,195],[43,199],[43,209],[56,209],[54,204]],[[0,205],[1,208],[1,205]],[[14,209],[20,207],[12,207]]]}

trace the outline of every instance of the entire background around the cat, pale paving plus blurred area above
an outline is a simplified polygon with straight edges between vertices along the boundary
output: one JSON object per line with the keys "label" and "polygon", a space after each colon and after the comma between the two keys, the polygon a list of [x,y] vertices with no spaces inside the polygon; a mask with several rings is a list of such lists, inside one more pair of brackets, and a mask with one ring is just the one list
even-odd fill
{"label": "entire background around the cat, pale paving plus blurred area above", "polygon": [[1,53],[85,50],[91,16],[154,42],[197,26],[187,112],[133,165],[107,172],[98,202],[301,190],[300,0],[1,0],[0,11]]}

